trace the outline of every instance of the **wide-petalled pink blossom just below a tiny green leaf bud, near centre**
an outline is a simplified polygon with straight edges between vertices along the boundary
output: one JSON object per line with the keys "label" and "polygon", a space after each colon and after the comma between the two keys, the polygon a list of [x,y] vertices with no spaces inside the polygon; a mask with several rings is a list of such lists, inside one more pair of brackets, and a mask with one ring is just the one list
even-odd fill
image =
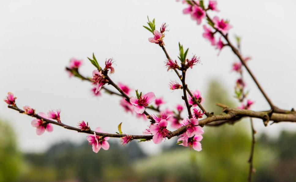
{"label": "wide-petalled pink blossom just below a tiny green leaf bud, near centre", "polygon": [[148,106],[149,103],[155,100],[155,95],[153,92],[149,92],[145,95],[141,95],[141,97],[131,97],[129,102],[134,105],[134,111],[138,114],[142,114],[145,111],[145,107]]}

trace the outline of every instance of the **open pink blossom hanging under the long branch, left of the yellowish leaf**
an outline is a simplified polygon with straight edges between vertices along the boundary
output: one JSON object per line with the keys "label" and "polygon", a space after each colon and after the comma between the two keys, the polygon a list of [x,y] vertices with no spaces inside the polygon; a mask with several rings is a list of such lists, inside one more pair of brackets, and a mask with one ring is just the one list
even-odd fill
{"label": "open pink blossom hanging under the long branch, left of the yellowish leaf", "polygon": [[[103,133],[101,128],[96,128],[96,132]],[[110,137],[103,137],[103,136],[97,136],[96,132],[94,132],[93,135],[88,135],[86,138],[88,140],[88,144],[92,145],[92,151],[95,153],[98,153],[101,148],[104,150],[109,149],[109,143],[107,142]]]}

